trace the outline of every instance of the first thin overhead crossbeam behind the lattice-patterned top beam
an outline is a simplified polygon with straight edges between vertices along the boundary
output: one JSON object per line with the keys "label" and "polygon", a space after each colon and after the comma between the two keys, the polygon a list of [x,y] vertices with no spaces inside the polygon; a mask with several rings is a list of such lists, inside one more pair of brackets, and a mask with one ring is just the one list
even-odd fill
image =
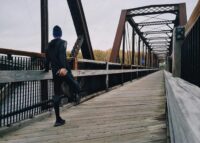
{"label": "first thin overhead crossbeam behind the lattice-patterned top beam", "polygon": [[142,22],[137,23],[138,26],[152,26],[152,25],[166,25],[174,24],[175,20],[165,20],[165,21],[153,21],[153,22]]}

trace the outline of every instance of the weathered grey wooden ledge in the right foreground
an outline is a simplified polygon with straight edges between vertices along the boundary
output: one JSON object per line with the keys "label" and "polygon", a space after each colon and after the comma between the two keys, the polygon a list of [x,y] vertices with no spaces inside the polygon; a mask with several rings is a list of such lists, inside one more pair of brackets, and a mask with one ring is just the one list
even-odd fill
{"label": "weathered grey wooden ledge in the right foreground", "polygon": [[171,143],[200,143],[200,88],[165,72]]}

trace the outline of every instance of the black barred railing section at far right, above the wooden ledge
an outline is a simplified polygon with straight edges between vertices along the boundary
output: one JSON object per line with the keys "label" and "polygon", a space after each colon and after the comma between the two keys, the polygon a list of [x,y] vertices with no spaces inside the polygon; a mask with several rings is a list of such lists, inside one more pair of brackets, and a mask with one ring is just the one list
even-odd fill
{"label": "black barred railing section at far right, above the wooden ledge", "polygon": [[187,33],[181,50],[181,78],[200,86],[200,17]]}

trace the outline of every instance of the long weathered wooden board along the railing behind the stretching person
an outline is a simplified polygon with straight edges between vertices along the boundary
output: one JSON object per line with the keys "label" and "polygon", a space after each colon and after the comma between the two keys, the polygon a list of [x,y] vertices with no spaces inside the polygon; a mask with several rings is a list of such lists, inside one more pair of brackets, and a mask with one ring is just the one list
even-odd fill
{"label": "long weathered wooden board along the railing behind the stretching person", "polygon": [[[75,77],[98,76],[107,74],[120,74],[130,72],[153,71],[157,69],[133,69],[133,70],[73,70]],[[37,70],[22,71],[0,71],[0,83],[20,82],[20,81],[38,81],[52,79],[52,72]]]}

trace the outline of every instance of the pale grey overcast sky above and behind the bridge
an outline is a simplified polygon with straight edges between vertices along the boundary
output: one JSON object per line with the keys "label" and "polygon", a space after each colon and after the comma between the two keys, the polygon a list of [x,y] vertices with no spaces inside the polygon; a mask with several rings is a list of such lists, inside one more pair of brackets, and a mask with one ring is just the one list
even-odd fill
{"label": "pale grey overcast sky above and behind the bridge", "polygon": [[[112,48],[122,9],[186,2],[187,16],[198,0],[82,0],[93,49]],[[40,0],[0,0],[0,48],[40,52]],[[49,40],[60,25],[68,49],[76,41],[66,0],[49,0]]]}

